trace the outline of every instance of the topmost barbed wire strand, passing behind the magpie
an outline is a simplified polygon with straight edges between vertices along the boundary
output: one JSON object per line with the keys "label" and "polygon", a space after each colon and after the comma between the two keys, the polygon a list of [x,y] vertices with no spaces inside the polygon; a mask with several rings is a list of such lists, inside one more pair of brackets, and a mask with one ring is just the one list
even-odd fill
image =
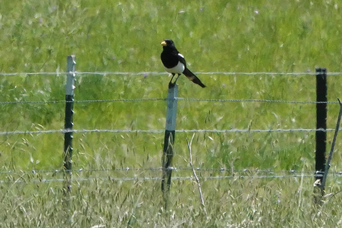
{"label": "topmost barbed wire strand, passing behind the magpie", "polygon": [[[18,76],[18,75],[60,75],[65,74],[67,72],[13,72],[6,73],[0,72],[0,76]],[[155,72],[155,71],[142,71],[142,72],[119,72],[119,71],[107,71],[107,72],[69,72],[75,75],[168,75],[167,72]],[[216,71],[216,72],[195,72],[198,75],[317,75],[319,73],[316,72],[225,72],[225,71]],[[342,72],[327,72],[327,75],[342,75]]]}

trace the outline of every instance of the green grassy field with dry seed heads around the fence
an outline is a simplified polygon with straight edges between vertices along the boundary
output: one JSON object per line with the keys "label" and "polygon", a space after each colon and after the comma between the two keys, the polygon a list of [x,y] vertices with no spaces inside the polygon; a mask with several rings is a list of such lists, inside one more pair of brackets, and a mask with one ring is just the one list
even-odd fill
{"label": "green grassy field with dry seed heads around the fence", "polygon": [[[162,72],[163,39],[173,39],[194,72],[328,72],[342,69],[340,1],[9,1],[0,4],[0,72],[60,72],[0,76],[0,101],[64,100],[66,56],[77,71]],[[62,73],[61,73],[62,72]],[[200,88],[181,77],[179,97],[315,100],[314,75],[204,75]],[[77,75],[75,99],[165,98],[165,75]],[[328,76],[328,100],[342,97],[341,75]],[[176,129],[313,129],[315,104],[178,102]],[[64,103],[1,104],[1,131],[64,126]],[[334,128],[338,105],[328,105]],[[76,103],[75,129],[163,129],[165,101]],[[174,166],[189,167],[186,138],[177,133]],[[163,133],[75,133],[73,167],[161,166]],[[328,133],[328,149],[333,132]],[[341,171],[338,137],[331,171]],[[64,136],[1,135],[0,223],[7,227],[339,227],[341,179],[329,176],[325,204],[313,203],[314,132],[195,133],[194,165],[234,172],[198,172],[197,186],[173,173],[172,203],[164,213],[156,171],[74,172],[63,198]],[[297,170],[302,177],[257,178],[236,170]],[[10,173],[8,171],[11,171]],[[23,172],[24,171],[24,172]],[[279,174],[279,173],[276,173]],[[280,175],[287,175],[281,172]],[[299,173],[300,175],[301,173]],[[243,175],[244,178],[239,178]],[[267,175],[262,173],[262,175]],[[273,174],[271,174],[273,175]],[[209,176],[234,178],[207,179]],[[42,179],[56,181],[40,182]],[[81,181],[81,178],[88,180]],[[67,205],[69,203],[69,205]]]}

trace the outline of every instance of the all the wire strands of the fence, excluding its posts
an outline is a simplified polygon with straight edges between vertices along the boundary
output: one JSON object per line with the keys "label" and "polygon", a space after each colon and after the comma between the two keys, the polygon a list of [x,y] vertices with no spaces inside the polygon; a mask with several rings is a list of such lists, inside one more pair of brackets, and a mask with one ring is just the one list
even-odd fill
{"label": "all the wire strands of the fence, excluding its posts", "polygon": [[[69,72],[75,75],[130,75],[130,76],[152,76],[152,75],[168,75],[166,72]],[[65,72],[15,72],[15,73],[0,73],[0,76],[34,76],[34,75],[60,75],[65,74]],[[199,75],[276,75],[276,76],[300,76],[300,75],[314,75],[316,76],[317,72],[196,72]],[[327,75],[335,76],[342,75],[342,72],[327,72]],[[177,100],[185,100],[185,101],[194,101],[194,102],[266,102],[266,103],[290,103],[290,104],[339,104],[339,102],[316,102],[316,101],[297,101],[297,100],[268,100],[268,99],[200,99],[200,98],[182,98],[176,97]],[[51,101],[9,101],[0,102],[0,105],[9,105],[9,104],[57,104],[57,103],[98,103],[98,102],[146,102],[146,101],[166,101],[166,98],[128,98],[128,99],[101,99],[101,100],[75,100],[75,101],[65,101],[65,100],[51,100]],[[334,131],[335,129],[193,129],[193,130],[176,130],[175,132],[183,132],[183,133],[271,133],[271,132],[328,132]],[[340,129],[342,130],[342,129]],[[164,133],[164,129],[150,129],[150,130],[131,130],[131,129],[56,129],[56,130],[38,130],[38,131],[4,131],[0,132],[0,135],[10,135],[10,134],[45,134],[45,133]],[[192,168],[188,167],[171,167],[170,169],[174,171],[192,171]],[[129,171],[149,171],[149,172],[161,172],[161,167],[151,167],[151,168],[121,168],[121,169],[77,169],[71,172],[74,173],[84,173],[84,172],[129,172]],[[218,172],[223,174],[224,172],[231,173],[230,175],[216,175],[216,176],[202,176],[203,179],[228,179],[228,178],[291,178],[291,177],[317,177],[322,176],[322,174],[314,173],[310,171],[271,171],[271,170],[249,170],[249,169],[241,169],[241,170],[232,170],[225,168],[196,168],[195,171],[198,172]],[[0,171],[1,174],[48,174],[48,173],[64,173],[64,170],[53,170],[53,171],[44,171],[44,170],[30,170],[30,171]],[[241,174],[241,175],[240,175]],[[251,175],[254,174],[254,175]],[[342,171],[335,171],[330,173],[329,175],[336,175],[338,177],[342,177]],[[193,179],[193,176],[175,176],[172,179]],[[93,181],[93,180],[109,180],[109,181],[146,181],[146,180],[160,180],[161,177],[73,177],[73,181],[83,182],[83,181]],[[34,182],[63,182],[64,179],[58,178],[50,178],[50,179],[37,179],[33,180]],[[0,183],[26,183],[26,180],[22,180],[18,178],[16,180],[0,180]]]}

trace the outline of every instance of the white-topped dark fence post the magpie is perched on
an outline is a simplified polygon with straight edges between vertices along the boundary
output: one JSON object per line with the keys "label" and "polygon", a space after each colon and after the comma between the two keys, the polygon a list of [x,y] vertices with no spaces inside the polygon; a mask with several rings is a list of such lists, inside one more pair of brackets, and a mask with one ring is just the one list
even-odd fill
{"label": "white-topped dark fence post the magpie is perched on", "polygon": [[[162,178],[161,178],[161,191],[163,192],[163,199],[165,202],[165,209],[167,209],[169,192],[171,187],[171,173],[172,173],[172,158],[173,158],[173,144],[176,128],[176,113],[177,113],[177,100],[178,85],[175,85],[168,90],[167,109],[166,109],[166,126],[165,138],[162,157]],[[165,188],[165,180],[167,179],[167,188]]]}

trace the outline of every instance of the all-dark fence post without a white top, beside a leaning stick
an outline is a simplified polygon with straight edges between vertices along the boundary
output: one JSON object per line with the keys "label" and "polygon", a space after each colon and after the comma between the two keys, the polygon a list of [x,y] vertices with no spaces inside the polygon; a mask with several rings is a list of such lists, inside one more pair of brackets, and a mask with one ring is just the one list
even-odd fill
{"label": "all-dark fence post without a white top, beside a leaning stick", "polygon": [[[327,69],[326,68],[316,68],[316,129],[326,130],[327,129]],[[315,183],[319,181],[322,183],[323,174],[325,170],[325,151],[327,145],[327,132],[326,131],[316,131],[316,164],[315,164]],[[324,189],[320,189],[320,194],[324,194]],[[318,203],[320,200],[315,198],[315,202]]]}

